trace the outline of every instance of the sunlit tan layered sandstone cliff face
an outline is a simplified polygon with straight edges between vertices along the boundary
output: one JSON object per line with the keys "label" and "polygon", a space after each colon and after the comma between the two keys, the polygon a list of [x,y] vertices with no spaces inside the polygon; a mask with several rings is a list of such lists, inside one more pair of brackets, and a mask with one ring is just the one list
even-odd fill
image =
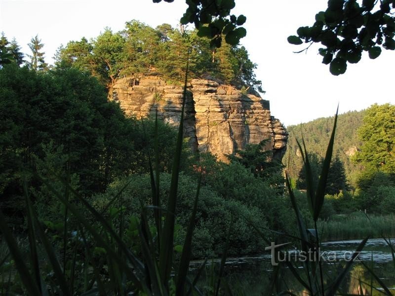
{"label": "sunlit tan layered sandstone cliff face", "polygon": [[[112,92],[112,99],[126,114],[155,116],[158,111],[159,118],[175,126],[180,121],[182,97],[181,85],[168,85],[158,76],[118,79]],[[269,101],[258,96],[216,81],[193,79],[184,111],[184,136],[195,150],[226,160],[226,154],[270,138],[266,149],[273,149],[279,158],[285,153],[288,133],[271,116]]]}

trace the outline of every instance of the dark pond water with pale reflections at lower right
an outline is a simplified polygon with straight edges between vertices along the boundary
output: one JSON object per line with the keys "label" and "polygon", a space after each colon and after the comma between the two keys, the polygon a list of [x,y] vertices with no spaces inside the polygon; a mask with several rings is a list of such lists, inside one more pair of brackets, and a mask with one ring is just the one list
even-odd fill
{"label": "dark pond water with pale reflections at lower right", "polygon": [[[336,254],[337,258],[337,260],[322,261],[324,286],[326,283],[334,281],[360,242],[360,240],[350,240],[321,244],[321,253]],[[391,242],[395,243],[395,239],[391,239]],[[289,252],[292,254],[295,251],[289,250]],[[214,266],[218,265],[216,264],[218,262],[219,260],[215,260],[214,265],[211,262],[206,265],[205,276],[202,276],[202,280],[199,282],[200,287],[210,286],[210,273],[215,268]],[[201,264],[196,261],[191,266],[192,269],[197,268],[199,263]],[[368,240],[338,292],[341,294],[384,295],[380,284],[366,270],[363,263],[368,265],[395,295],[395,262],[390,247],[383,239]],[[295,262],[294,265],[298,267],[301,277],[306,280],[303,264]],[[269,251],[255,257],[230,258],[226,262],[225,279],[234,295],[266,295],[271,284],[272,274],[273,266]],[[306,292],[286,267],[280,269],[278,287],[280,291],[291,291],[297,295]]]}

